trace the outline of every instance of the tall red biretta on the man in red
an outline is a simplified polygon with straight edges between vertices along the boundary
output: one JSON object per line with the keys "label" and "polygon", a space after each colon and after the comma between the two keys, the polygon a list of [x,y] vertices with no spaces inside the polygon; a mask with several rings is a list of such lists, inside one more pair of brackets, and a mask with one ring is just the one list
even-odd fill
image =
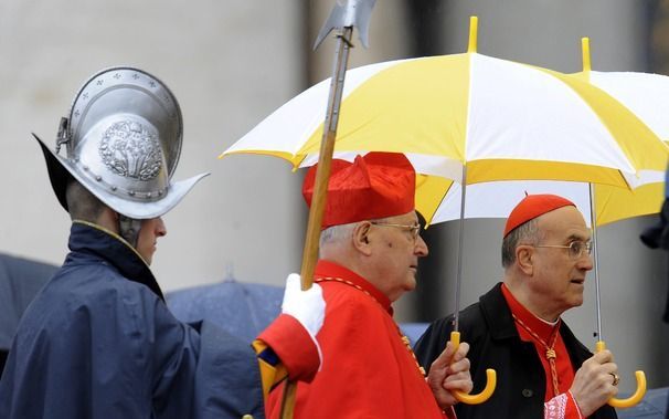
{"label": "tall red biretta on the man in red", "polygon": [[[311,206],[316,166],[302,186]],[[322,229],[350,222],[401,216],[414,209],[416,174],[408,159],[397,153],[369,153],[353,163],[333,159]]]}

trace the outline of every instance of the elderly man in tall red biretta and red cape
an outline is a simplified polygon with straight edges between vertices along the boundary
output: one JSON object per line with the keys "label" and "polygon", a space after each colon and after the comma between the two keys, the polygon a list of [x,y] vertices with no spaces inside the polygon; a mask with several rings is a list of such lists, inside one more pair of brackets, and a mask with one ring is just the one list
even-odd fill
{"label": "elderly man in tall red biretta and red cape", "polygon": [[[299,383],[295,418],[453,418],[453,390],[471,390],[468,345],[439,350],[427,379],[391,304],[416,286],[427,255],[414,211],[415,172],[401,154],[333,160],[315,282],[326,300],[322,369]],[[305,179],[310,203],[315,169]],[[277,418],[275,389],[267,417]],[[444,412],[446,410],[446,412]]]}

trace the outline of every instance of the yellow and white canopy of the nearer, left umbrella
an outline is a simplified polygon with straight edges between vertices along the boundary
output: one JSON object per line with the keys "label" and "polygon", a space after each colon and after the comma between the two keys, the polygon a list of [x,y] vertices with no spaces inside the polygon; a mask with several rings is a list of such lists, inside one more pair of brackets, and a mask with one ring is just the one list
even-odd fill
{"label": "yellow and white canopy of the nearer, left umbrella", "polygon": [[[667,147],[610,95],[574,76],[479,54],[475,34],[464,54],[348,71],[336,157],[404,153],[418,172],[467,185],[548,179],[636,187],[640,170],[665,169]],[[328,85],[286,103],[223,156],[273,155],[295,168],[315,163]]]}

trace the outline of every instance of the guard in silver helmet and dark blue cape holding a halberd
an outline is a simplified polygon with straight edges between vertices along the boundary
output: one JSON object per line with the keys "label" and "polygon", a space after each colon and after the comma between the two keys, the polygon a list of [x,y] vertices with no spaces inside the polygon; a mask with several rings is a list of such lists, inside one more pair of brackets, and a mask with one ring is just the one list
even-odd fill
{"label": "guard in silver helmet and dark blue cape holding a halberd", "polygon": [[171,180],[182,134],[172,92],[120,66],[79,90],[55,150],[35,136],[72,219],[70,253],[19,325],[1,418],[263,418],[264,390],[316,374],[325,302],[299,276],[253,347],[166,306],[149,269],[161,216],[205,176]]}

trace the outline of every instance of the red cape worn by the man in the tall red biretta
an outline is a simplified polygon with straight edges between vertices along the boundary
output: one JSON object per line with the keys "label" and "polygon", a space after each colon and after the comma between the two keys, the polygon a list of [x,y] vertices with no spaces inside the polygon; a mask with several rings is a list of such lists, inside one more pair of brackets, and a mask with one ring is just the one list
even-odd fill
{"label": "red cape worn by the man in the tall red biretta", "polygon": [[[322,367],[311,384],[298,384],[295,418],[446,418],[393,321],[390,300],[332,262],[318,262],[315,281],[326,300],[317,336]],[[283,392],[283,385],[270,392],[268,418],[279,418]]]}

